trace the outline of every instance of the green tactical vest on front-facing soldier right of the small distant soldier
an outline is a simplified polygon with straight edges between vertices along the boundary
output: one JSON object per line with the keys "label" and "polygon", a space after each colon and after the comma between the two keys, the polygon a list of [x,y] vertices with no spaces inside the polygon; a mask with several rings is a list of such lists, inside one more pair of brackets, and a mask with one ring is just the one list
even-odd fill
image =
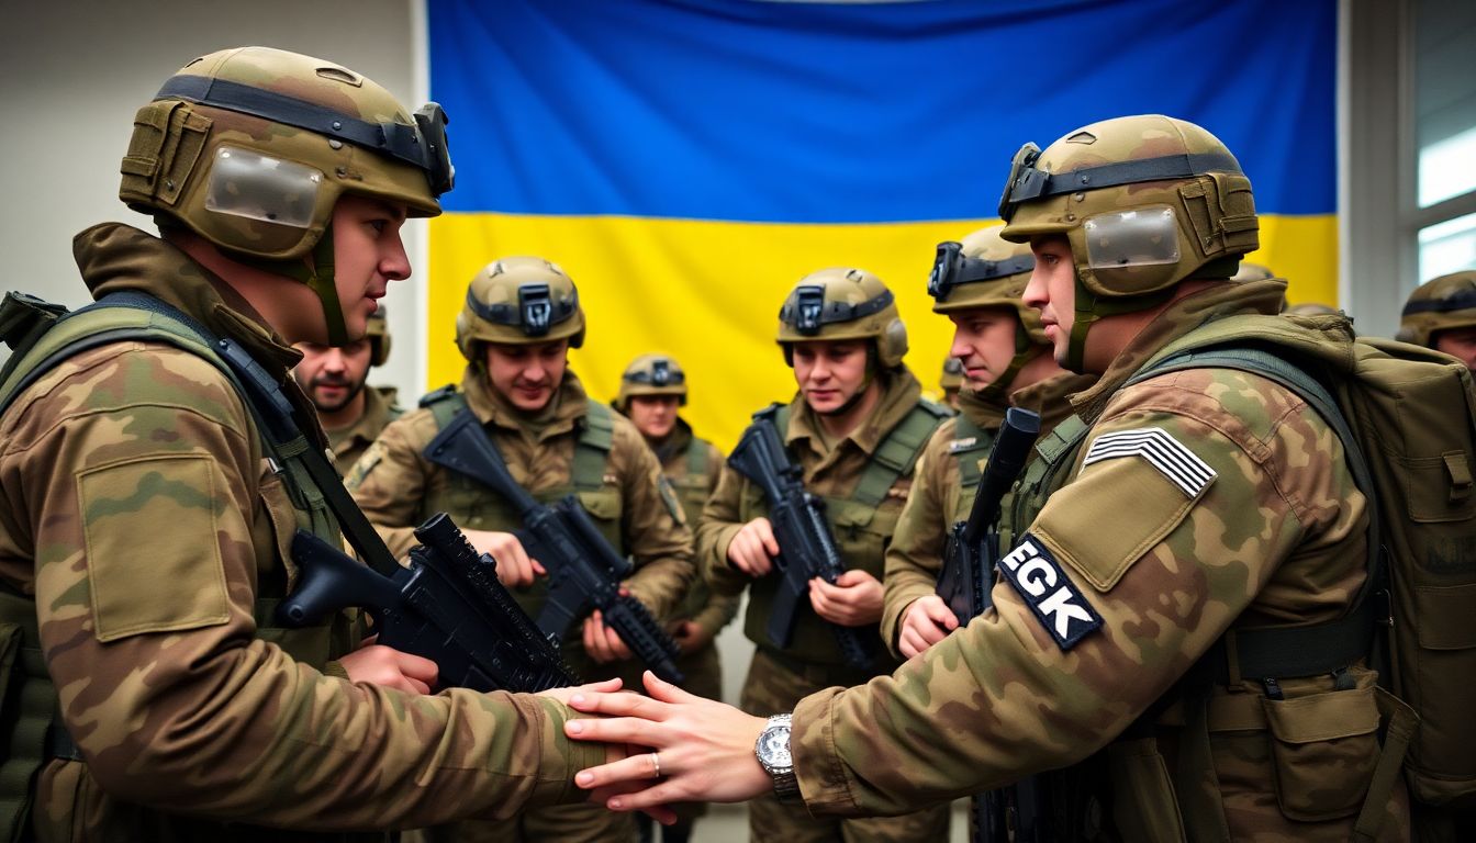
{"label": "green tactical vest on front-facing soldier right of the small distant soldier", "polygon": [[[790,425],[790,407],[770,405],[754,413],[754,419],[760,418],[772,421],[782,437]],[[877,580],[883,579],[887,545],[892,543],[892,534],[897,529],[897,517],[902,515],[900,502],[896,506],[883,506],[887,500],[887,492],[897,480],[912,472],[928,437],[945,418],[948,416],[937,405],[920,400],[877,446],[850,495],[844,498],[822,496],[825,521],[830,524],[847,568],[862,568]],[[763,492],[754,484],[748,484],[741,502],[739,518],[747,523],[766,512],[768,503],[763,499]],[[794,635],[790,647],[782,653],[773,647],[766,624],[769,622],[768,610],[773,604],[778,588],[778,576],[759,577],[750,583],[744,633],[768,653],[778,653],[781,660],[843,667],[844,658],[835,645],[835,636],[828,629],[830,624],[809,607],[803,607],[794,619]],[[858,632],[862,632],[862,627],[858,627]],[[872,650],[878,654],[875,672],[890,672],[896,661],[886,656],[887,648],[881,644],[881,635],[875,626],[865,629],[865,633],[874,639]]]}

